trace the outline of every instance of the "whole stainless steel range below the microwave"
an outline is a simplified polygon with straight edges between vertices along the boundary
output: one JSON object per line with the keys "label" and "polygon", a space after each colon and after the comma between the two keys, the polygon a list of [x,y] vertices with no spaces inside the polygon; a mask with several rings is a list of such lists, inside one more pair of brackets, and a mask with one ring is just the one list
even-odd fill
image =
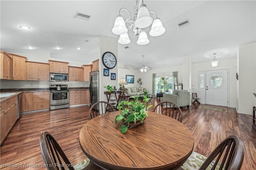
{"label": "whole stainless steel range below the microwave", "polygon": [[69,107],[68,85],[50,85],[50,110]]}

